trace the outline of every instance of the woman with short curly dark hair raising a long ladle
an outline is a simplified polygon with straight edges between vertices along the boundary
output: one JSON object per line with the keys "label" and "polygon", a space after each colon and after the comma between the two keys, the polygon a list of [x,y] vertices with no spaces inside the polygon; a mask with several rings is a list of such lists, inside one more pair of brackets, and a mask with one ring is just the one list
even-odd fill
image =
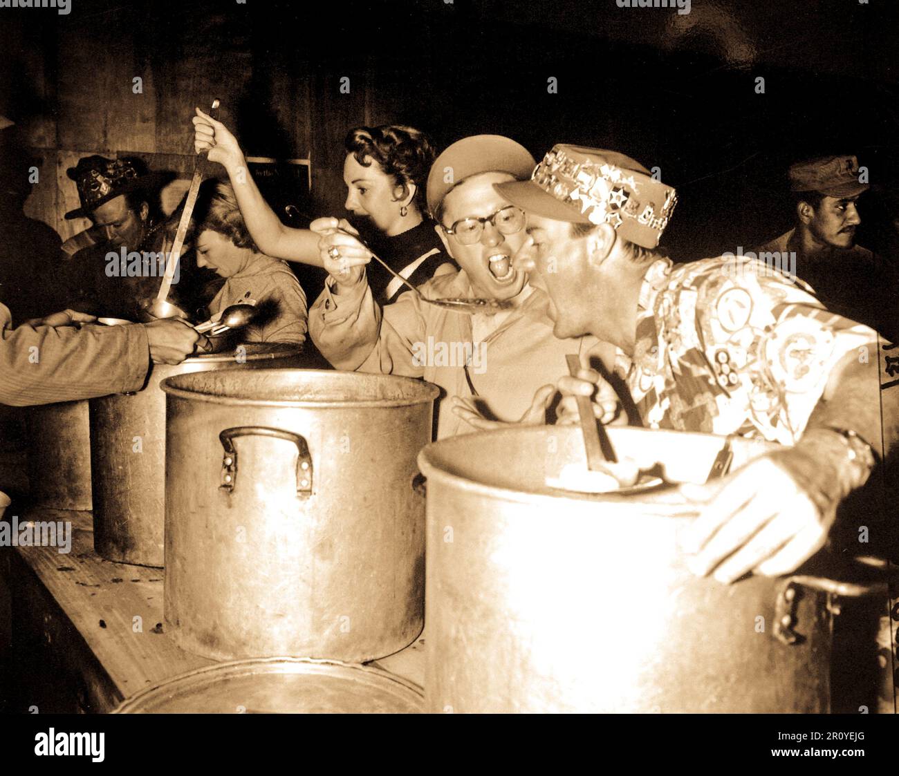
{"label": "woman with short curly dark hair raising a long ladle", "polygon": [[[263,253],[321,267],[320,234],[338,226],[356,231],[333,218],[316,219],[312,225],[316,232],[282,224],[246,173],[244,154],[225,125],[200,109],[193,124],[197,153],[208,150],[212,162],[224,165],[247,228]],[[423,133],[394,125],[357,127],[350,130],[344,146],[345,207],[372,251],[414,286],[455,269],[424,203],[434,151]],[[377,262],[369,266],[369,285],[380,304],[393,302],[405,290]]]}

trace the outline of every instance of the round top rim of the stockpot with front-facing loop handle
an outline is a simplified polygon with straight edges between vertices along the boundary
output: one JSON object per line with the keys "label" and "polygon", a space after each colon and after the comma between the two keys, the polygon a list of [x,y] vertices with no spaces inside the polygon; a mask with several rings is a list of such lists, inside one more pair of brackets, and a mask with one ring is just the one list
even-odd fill
{"label": "round top rim of the stockpot with front-facing loop handle", "polygon": [[[223,370],[226,371],[226,370]],[[366,378],[377,378],[385,381],[394,382],[396,384],[406,384],[414,387],[414,391],[418,392],[418,396],[408,396],[398,399],[247,399],[240,396],[218,396],[210,393],[198,392],[189,388],[182,387],[179,383],[190,383],[197,380],[210,379],[209,375],[220,375],[215,372],[196,372],[185,375],[172,375],[166,377],[159,384],[170,396],[176,396],[179,399],[189,401],[200,401],[207,404],[227,404],[232,407],[283,407],[283,408],[316,408],[316,409],[352,409],[356,407],[362,408],[396,408],[409,407],[418,404],[424,404],[428,401],[435,401],[440,395],[440,388],[425,380],[419,380],[414,377],[401,377],[398,375],[374,375],[369,373],[343,372],[329,369],[229,369],[228,379],[232,380],[258,380],[267,372],[275,373],[278,376],[284,375],[344,375],[338,377],[338,380],[347,380],[353,375],[364,375]],[[235,376],[240,375],[240,376]],[[246,376],[249,375],[249,376]]]}

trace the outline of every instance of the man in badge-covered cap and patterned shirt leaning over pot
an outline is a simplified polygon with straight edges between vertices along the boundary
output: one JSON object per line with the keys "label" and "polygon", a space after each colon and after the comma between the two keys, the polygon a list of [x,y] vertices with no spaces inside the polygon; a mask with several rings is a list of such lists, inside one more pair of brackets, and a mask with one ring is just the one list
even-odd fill
{"label": "man in badge-covered cap and patterned shirt leaning over pot", "polygon": [[[699,516],[684,542],[691,568],[725,582],[796,569],[875,463],[875,332],[757,260],[673,265],[658,243],[674,190],[623,154],[556,145],[530,181],[496,189],[528,212],[515,263],[547,289],[556,336],[620,348],[645,426],[790,445],[681,487],[685,516]],[[559,387],[591,395],[598,381],[584,371]],[[888,412],[899,423],[899,407]]]}

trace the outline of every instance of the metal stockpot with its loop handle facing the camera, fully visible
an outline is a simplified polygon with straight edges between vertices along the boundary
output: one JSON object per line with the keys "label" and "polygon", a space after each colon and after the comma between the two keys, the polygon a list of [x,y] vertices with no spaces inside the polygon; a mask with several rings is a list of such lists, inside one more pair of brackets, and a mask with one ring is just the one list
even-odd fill
{"label": "metal stockpot with its loop handle facing the camera, fully visible", "polygon": [[438,389],[313,370],[170,377],[165,621],[217,660],[364,662],[422,629],[415,456]]}

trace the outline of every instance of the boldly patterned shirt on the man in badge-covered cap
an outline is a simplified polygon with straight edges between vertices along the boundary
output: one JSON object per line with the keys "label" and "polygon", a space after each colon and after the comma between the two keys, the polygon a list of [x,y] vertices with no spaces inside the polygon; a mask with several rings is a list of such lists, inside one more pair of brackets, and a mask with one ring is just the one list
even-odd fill
{"label": "boldly patterned shirt on the man in badge-covered cap", "polygon": [[855,351],[872,357],[877,341],[761,262],[697,261],[655,286],[628,377],[655,428],[796,444],[834,366]]}

